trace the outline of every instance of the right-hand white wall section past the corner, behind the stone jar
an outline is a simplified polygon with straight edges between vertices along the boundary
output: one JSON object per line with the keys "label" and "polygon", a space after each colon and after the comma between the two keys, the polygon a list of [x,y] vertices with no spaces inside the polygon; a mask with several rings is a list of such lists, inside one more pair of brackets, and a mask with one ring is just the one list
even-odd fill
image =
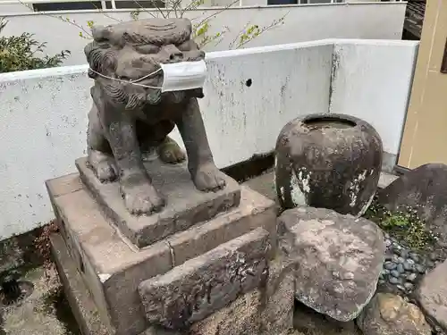
{"label": "right-hand white wall section past the corner, behind the stone jar", "polygon": [[[331,113],[348,113],[371,123],[395,155],[401,147],[417,41],[338,40],[334,45]],[[390,47],[392,46],[392,47]],[[389,80],[384,80],[384,75]],[[399,131],[397,131],[399,130]],[[384,157],[390,160],[390,157]]]}

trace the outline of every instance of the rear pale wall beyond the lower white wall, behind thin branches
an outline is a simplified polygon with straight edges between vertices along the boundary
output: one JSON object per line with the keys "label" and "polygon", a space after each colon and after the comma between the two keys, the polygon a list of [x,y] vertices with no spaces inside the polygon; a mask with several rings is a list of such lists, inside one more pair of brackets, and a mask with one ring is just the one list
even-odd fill
{"label": "rear pale wall beyond the lower white wall, behind thin branches", "polygon": [[[231,8],[217,14],[210,22],[209,35],[222,31],[225,26],[230,26],[230,31],[223,35],[220,44],[209,44],[205,50],[227,50],[247,23],[266,26],[286,14],[283,25],[266,31],[246,46],[272,46],[323,38],[401,39],[405,6],[403,3],[360,3]],[[215,8],[200,9],[190,11],[187,16],[199,21],[219,11]],[[20,35],[24,31],[32,32],[38,41],[47,42],[48,54],[71,50],[72,56],[64,64],[79,65],[85,63],[83,48],[88,40],[80,38],[78,27],[61,21],[57,16],[69,17],[76,24],[87,27],[87,21],[97,24],[110,24],[116,22],[114,20],[129,21],[130,13],[119,10],[107,12],[107,16],[92,11],[54,13],[52,16],[44,13],[4,13],[2,16],[9,23],[3,33]],[[148,13],[140,14],[141,18],[149,16]]]}

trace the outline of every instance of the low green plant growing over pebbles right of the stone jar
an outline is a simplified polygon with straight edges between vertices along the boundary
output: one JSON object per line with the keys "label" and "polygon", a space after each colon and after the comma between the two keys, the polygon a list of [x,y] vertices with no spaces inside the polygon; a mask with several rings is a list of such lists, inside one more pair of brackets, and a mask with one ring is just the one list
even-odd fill
{"label": "low green plant growing over pebbles right of the stone jar", "polygon": [[426,222],[419,217],[415,208],[401,207],[391,212],[375,197],[364,216],[415,250],[425,251],[437,239],[437,236],[427,229]]}

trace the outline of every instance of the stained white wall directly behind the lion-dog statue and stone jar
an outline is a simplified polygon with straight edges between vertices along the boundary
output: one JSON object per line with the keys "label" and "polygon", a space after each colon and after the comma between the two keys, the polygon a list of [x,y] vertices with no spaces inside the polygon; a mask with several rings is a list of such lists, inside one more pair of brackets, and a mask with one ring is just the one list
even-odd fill
{"label": "stained white wall directly behind the lion-dog statue and stone jar", "polygon": [[[200,100],[200,106],[219,167],[273,150],[279,131],[293,118],[328,111],[373,121],[384,138],[384,147],[391,150],[391,155],[398,153],[399,138],[389,132],[401,133],[408,101],[402,92],[409,86],[414,62],[395,62],[397,69],[391,71],[388,60],[375,59],[375,55],[409,60],[417,43],[335,42],[207,54],[206,97]],[[333,87],[334,43],[338,65]],[[371,65],[350,73],[350,63],[355,63],[360,54],[369,57]],[[0,239],[51,220],[44,181],[75,172],[74,160],[85,155],[92,83],[86,71],[87,66],[80,65],[0,74]],[[250,87],[247,80],[252,82]],[[401,93],[390,95],[390,83],[395,83],[394,91]],[[358,88],[355,95],[351,87]],[[375,96],[383,119],[376,117],[377,111],[369,106],[371,99],[361,88]],[[177,132],[173,137],[180,140]]]}

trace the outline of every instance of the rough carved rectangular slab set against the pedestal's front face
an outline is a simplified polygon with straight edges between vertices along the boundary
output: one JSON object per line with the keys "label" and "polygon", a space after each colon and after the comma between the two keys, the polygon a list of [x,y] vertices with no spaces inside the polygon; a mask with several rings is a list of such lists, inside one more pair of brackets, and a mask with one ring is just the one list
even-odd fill
{"label": "rough carved rectangular slab set against the pedestal's front face", "polygon": [[232,239],[139,284],[149,322],[180,330],[257,288],[268,277],[268,232]]}

